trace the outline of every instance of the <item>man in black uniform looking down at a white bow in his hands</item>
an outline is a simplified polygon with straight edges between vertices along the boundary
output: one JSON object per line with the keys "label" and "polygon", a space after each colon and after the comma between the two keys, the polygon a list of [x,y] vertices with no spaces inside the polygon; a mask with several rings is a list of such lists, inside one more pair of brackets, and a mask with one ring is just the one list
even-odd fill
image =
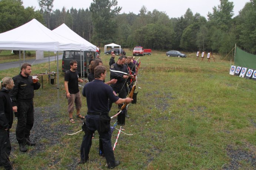
{"label": "man in black uniform looking down at a white bow in his hands", "polygon": [[[124,72],[129,74],[129,71],[127,69],[127,66],[124,65],[125,63],[125,57],[120,56],[118,61],[114,63],[113,65],[110,66],[110,70],[116,70],[120,72]],[[117,73],[117,72],[112,72],[110,71],[110,80],[112,79],[117,79],[116,84],[111,84],[110,86],[112,89],[115,91],[115,93],[118,93],[119,98],[125,98],[127,93],[126,93],[126,81],[129,76],[123,74],[123,73]],[[118,107],[121,108],[123,104],[119,104]],[[112,107],[112,103],[109,103],[109,110]],[[125,116],[128,118],[129,115],[127,114],[127,111],[124,109]]]}

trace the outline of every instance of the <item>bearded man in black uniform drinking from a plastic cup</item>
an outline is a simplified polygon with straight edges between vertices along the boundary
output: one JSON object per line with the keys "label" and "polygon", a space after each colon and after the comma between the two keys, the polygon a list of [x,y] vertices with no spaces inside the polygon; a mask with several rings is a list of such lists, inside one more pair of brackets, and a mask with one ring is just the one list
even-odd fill
{"label": "bearded man in black uniform drinking from a plastic cup", "polygon": [[33,83],[32,76],[30,76],[31,71],[31,65],[24,63],[21,66],[20,74],[13,77],[15,86],[10,91],[13,111],[18,118],[16,139],[19,143],[20,152],[27,152],[25,145],[36,145],[29,139],[29,136],[34,124],[34,90],[39,89],[41,84],[37,82],[38,78]]}

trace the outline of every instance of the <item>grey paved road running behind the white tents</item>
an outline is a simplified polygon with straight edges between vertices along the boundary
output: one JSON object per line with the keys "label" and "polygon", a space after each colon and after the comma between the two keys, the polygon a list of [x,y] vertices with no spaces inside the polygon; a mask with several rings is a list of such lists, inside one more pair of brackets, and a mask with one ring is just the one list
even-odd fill
{"label": "grey paved road running behind the white tents", "polygon": [[[62,54],[59,55],[59,60],[61,60],[61,59],[62,59]],[[56,56],[56,60],[57,60],[57,56]],[[39,63],[45,63],[48,61],[49,61],[48,57],[44,58],[44,59],[40,59],[40,60],[36,60],[36,59],[25,60],[26,63],[30,63],[32,65],[39,64]],[[55,61],[55,56],[51,56],[50,61]],[[21,59],[21,65],[22,64],[23,64],[23,59]],[[6,70],[6,69],[11,69],[11,68],[16,68],[16,67],[20,67],[20,61],[10,62],[10,63],[0,63],[0,70]]]}

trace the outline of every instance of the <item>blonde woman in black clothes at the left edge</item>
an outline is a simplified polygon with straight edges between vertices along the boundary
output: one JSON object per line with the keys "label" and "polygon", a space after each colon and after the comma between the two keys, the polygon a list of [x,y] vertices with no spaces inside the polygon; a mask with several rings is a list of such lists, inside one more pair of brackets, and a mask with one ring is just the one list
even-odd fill
{"label": "blonde woman in black clothes at the left edge", "polygon": [[11,153],[9,130],[13,124],[13,107],[9,90],[13,89],[13,86],[11,77],[4,77],[0,82],[0,165],[6,170],[13,169],[9,159]]}

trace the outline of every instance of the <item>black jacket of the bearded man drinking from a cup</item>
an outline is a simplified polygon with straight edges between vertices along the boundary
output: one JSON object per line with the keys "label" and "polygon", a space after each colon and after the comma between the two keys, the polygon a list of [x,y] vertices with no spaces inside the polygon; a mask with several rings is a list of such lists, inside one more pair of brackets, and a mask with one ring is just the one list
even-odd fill
{"label": "black jacket of the bearded man drinking from a cup", "polygon": [[14,87],[10,90],[13,106],[17,106],[17,101],[33,100],[34,90],[40,88],[39,82],[33,83],[32,76],[23,77],[21,73],[13,77]]}

